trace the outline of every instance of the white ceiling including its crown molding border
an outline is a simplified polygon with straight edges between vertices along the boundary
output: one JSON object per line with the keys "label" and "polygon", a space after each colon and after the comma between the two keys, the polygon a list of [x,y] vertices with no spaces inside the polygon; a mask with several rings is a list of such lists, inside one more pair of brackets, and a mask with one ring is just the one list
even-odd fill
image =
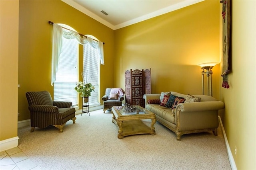
{"label": "white ceiling including its crown molding border", "polygon": [[[62,0],[91,18],[119,29],[204,0]],[[101,11],[108,13],[106,16]]]}

